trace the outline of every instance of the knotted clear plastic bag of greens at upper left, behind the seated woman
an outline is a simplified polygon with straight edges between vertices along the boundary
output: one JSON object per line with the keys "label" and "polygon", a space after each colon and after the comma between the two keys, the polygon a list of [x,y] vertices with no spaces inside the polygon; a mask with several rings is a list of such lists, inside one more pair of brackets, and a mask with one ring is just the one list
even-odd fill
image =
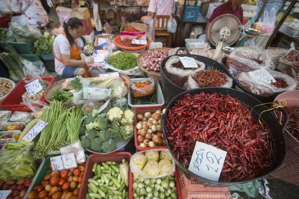
{"label": "knotted clear plastic bag of greens at upper left, behind the seated woman", "polygon": [[11,30],[17,42],[34,42],[41,33],[30,25],[24,14],[11,17]]}

